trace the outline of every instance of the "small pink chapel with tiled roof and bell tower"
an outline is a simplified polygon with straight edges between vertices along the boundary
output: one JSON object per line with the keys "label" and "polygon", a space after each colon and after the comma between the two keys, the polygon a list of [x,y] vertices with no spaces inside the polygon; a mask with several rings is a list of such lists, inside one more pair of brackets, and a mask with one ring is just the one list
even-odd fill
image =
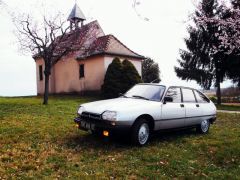
{"label": "small pink chapel with tiled roof and bell tower", "polygon": [[[99,91],[108,65],[115,57],[128,59],[141,76],[143,56],[133,52],[113,35],[105,35],[97,21],[83,24],[85,17],[75,4],[68,21],[71,31],[66,42],[75,39],[74,51],[58,61],[51,71],[49,93]],[[83,48],[84,47],[84,48]],[[44,93],[44,62],[34,57],[37,70],[37,93]]]}

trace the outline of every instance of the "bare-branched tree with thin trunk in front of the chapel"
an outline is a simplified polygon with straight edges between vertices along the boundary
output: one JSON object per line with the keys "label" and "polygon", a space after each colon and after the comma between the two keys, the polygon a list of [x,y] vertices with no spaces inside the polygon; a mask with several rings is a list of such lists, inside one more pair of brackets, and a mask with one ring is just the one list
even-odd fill
{"label": "bare-branched tree with thin trunk in front of the chapel", "polygon": [[[66,21],[59,18],[59,14],[51,20],[43,16],[41,23],[33,21],[33,18],[24,14],[17,18],[14,17],[13,22],[16,26],[16,36],[20,43],[20,49],[31,52],[34,54],[34,58],[39,57],[44,61],[45,90],[43,104],[48,104],[51,68],[73,50],[74,41],[66,42],[66,39],[73,34],[68,33],[69,26],[65,25]],[[72,37],[71,39],[76,38]]]}

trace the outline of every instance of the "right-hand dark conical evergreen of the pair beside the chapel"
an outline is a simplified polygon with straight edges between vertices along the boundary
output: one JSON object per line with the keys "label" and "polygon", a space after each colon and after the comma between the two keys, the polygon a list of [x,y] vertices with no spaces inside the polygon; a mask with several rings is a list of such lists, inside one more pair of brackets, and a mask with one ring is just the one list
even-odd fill
{"label": "right-hand dark conical evergreen of the pair beside the chapel", "polygon": [[122,80],[122,93],[125,93],[135,84],[142,82],[135,66],[127,59],[122,62]]}

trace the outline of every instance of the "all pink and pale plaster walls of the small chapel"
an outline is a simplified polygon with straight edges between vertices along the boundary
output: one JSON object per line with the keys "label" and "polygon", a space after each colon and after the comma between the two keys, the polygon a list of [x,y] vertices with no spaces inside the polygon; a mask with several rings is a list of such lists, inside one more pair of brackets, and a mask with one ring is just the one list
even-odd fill
{"label": "all pink and pale plaster walls of the small chapel", "polygon": [[[95,56],[87,60],[79,61],[75,60],[73,57],[60,60],[52,68],[49,81],[49,93],[73,93],[100,90],[107,67],[113,59],[114,57],[110,56]],[[141,75],[141,61],[135,59],[129,60],[135,65]],[[39,81],[39,65],[43,64],[42,59],[36,60],[38,94],[44,93],[44,75],[43,80]],[[85,76],[83,78],[79,78],[80,64],[84,64]]]}

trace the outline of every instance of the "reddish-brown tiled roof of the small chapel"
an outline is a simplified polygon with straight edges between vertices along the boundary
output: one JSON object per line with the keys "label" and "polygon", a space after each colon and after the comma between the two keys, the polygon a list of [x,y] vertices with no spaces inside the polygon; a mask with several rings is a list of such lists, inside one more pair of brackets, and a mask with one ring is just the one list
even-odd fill
{"label": "reddish-brown tiled roof of the small chapel", "polygon": [[[59,39],[56,42],[60,41]],[[130,50],[113,35],[105,35],[97,21],[92,21],[66,34],[58,42],[55,53],[58,54],[66,46],[71,46],[72,52],[69,54],[74,55],[76,59],[85,59],[99,54],[144,58]],[[33,58],[37,57],[39,56],[35,55]]]}

